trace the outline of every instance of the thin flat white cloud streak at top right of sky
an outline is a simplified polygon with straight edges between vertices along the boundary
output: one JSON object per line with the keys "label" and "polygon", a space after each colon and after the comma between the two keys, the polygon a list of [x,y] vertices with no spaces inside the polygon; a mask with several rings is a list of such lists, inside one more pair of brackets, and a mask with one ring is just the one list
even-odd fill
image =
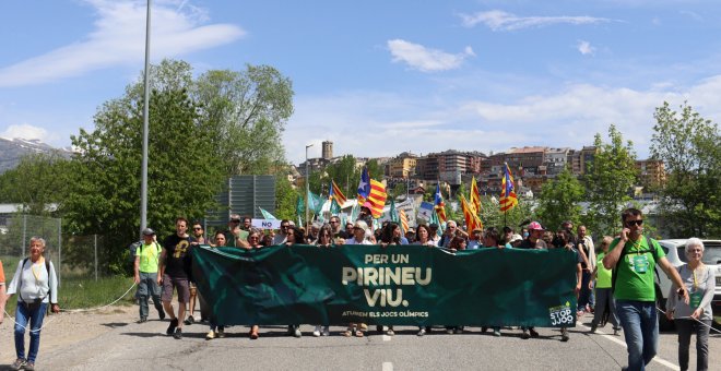
{"label": "thin flat white cloud streak at top right of sky", "polygon": [[460,14],[462,23],[466,27],[473,27],[478,23],[485,24],[493,31],[515,31],[529,27],[543,27],[553,24],[593,24],[611,22],[608,19],[588,15],[580,16],[517,16],[501,10],[477,12],[474,14]]}

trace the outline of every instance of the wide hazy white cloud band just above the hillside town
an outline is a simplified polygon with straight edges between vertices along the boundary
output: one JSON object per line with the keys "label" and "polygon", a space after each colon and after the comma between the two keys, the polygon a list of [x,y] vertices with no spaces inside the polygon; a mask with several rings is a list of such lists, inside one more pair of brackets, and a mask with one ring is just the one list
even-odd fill
{"label": "wide hazy white cloud band just above the hillside town", "polygon": [[319,157],[320,142],[326,140],[333,142],[334,155],[356,157],[449,148],[487,154],[524,145],[581,148],[592,144],[596,133],[607,142],[613,123],[634,142],[638,156],[647,157],[655,107],[665,100],[677,108],[688,100],[704,118],[719,122],[718,96],[721,75],[683,89],[665,84],[643,91],[567,85],[510,103],[379,92],[299,96],[284,144],[294,164],[304,160],[307,143],[317,143],[309,156]]}

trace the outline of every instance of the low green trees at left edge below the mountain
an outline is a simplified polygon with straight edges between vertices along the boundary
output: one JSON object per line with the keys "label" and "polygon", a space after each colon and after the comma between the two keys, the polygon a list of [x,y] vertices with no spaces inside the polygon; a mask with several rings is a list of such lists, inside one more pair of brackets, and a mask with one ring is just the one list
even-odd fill
{"label": "low green trees at left edge below the mountain", "polygon": [[48,216],[48,204],[62,203],[73,180],[70,160],[59,153],[29,154],[0,175],[0,202],[20,203],[24,212]]}

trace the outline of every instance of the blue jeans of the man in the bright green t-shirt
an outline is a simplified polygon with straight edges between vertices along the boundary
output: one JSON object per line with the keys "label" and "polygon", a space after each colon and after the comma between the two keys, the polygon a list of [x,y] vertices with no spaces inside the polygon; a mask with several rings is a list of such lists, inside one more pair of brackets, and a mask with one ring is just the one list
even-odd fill
{"label": "blue jeans of the man in the bright green t-shirt", "polygon": [[659,319],[653,301],[616,300],[616,314],[624,327],[628,370],[643,371],[659,348]]}

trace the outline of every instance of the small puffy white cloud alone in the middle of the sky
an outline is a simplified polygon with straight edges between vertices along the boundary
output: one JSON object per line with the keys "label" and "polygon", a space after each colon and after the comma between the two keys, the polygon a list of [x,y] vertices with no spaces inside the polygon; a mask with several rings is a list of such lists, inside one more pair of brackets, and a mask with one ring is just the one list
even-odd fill
{"label": "small puffy white cloud alone in the middle of the sky", "polygon": [[405,62],[412,69],[422,72],[457,69],[468,57],[475,56],[470,46],[466,46],[461,53],[451,55],[398,38],[388,40],[388,49],[393,56],[393,62]]}

